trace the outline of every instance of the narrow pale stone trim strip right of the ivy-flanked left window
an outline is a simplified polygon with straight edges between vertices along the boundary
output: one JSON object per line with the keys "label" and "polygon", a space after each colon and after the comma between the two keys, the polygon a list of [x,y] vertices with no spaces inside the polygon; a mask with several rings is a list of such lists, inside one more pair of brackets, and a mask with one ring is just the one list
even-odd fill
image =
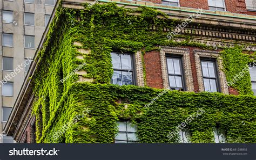
{"label": "narrow pale stone trim strip right of the ivy-flanked left window", "polygon": [[138,86],[145,86],[144,84],[144,70],[143,70],[143,63],[142,63],[142,52],[138,51],[134,54],[135,59],[135,72],[136,72],[136,82]]}

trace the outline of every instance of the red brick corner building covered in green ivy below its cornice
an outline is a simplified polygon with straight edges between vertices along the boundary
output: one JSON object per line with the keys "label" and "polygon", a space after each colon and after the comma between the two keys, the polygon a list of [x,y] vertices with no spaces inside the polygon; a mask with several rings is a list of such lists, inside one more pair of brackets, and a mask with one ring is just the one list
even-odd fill
{"label": "red brick corner building covered in green ivy below its cornice", "polygon": [[256,142],[256,17],[69,0],[50,22],[4,128],[17,142]]}

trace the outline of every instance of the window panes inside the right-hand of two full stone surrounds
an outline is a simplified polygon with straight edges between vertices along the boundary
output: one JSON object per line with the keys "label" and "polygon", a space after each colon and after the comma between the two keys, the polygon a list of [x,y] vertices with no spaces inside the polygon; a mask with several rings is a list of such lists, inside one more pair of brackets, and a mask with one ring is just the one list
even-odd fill
{"label": "window panes inside the right-hand of two full stone surrounds", "polygon": [[201,68],[203,71],[204,89],[207,92],[219,92],[218,78],[215,61],[202,61]]}

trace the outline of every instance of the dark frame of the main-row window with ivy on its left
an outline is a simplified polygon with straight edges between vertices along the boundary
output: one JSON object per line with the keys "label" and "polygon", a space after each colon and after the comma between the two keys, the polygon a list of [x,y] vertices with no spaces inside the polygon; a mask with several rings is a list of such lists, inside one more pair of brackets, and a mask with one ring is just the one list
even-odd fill
{"label": "dark frame of the main-row window with ivy on its left", "polygon": [[[136,67],[135,67],[135,56],[134,56],[134,54],[133,53],[120,53],[120,52],[111,52],[111,53],[127,54],[127,55],[129,54],[130,55],[130,57],[131,57],[131,70],[128,70],[128,69],[115,69],[113,67],[112,67],[112,69],[113,69],[113,71],[115,71],[115,70],[116,71],[126,71],[126,72],[132,71],[132,81],[133,81],[133,84],[131,84],[131,85],[137,85],[137,81],[136,81],[136,79],[137,79],[137,77],[136,77]],[[111,57],[111,60],[112,60],[112,57]],[[122,64],[122,62],[121,62],[121,64]],[[112,63],[112,66],[113,66],[113,63]],[[113,75],[112,75],[112,77],[113,77]],[[112,80],[112,77],[111,77],[111,80]],[[111,84],[113,84],[113,83],[111,83]],[[118,85],[118,84],[115,84],[115,85]]]}

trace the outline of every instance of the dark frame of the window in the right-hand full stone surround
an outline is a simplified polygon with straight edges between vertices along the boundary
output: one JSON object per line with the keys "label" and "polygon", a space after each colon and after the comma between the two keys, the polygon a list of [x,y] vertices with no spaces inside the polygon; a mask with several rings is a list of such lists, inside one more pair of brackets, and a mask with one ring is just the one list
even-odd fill
{"label": "dark frame of the window in the right-hand full stone surround", "polygon": [[[203,73],[203,66],[201,62],[213,62],[213,68],[214,68],[214,74],[215,74],[215,78],[214,77],[205,77],[204,73]],[[216,59],[210,59],[210,58],[204,58],[201,57],[200,58],[200,66],[201,66],[201,74],[202,74],[202,78],[203,78],[203,84],[204,84],[204,91],[205,91],[205,83],[204,83],[204,79],[215,79],[216,82],[216,88],[217,88],[217,92],[221,93],[221,88],[220,88],[220,79],[219,76],[217,74],[218,70],[218,66],[217,66],[217,60]],[[207,91],[205,91],[207,92]],[[214,93],[214,92],[210,92],[210,93]]]}

